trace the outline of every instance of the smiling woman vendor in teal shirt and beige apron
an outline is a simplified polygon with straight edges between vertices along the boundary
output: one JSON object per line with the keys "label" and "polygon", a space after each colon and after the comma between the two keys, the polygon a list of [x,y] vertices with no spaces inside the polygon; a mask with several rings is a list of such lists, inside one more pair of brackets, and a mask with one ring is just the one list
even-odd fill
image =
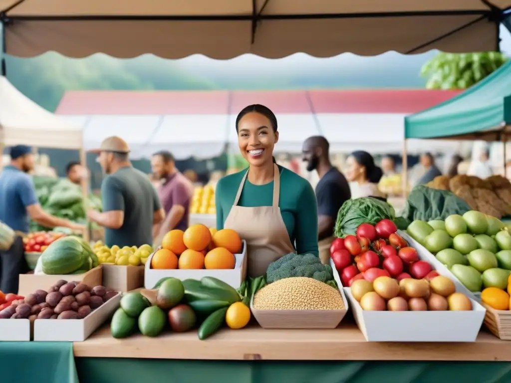
{"label": "smiling woman vendor in teal shirt and beige apron", "polygon": [[246,240],[251,277],[265,274],[271,262],[291,252],[318,256],[314,190],[306,179],[275,164],[275,115],[263,105],[247,106],[236,118],[236,131],[249,166],[218,182],[217,229],[234,229]]}

